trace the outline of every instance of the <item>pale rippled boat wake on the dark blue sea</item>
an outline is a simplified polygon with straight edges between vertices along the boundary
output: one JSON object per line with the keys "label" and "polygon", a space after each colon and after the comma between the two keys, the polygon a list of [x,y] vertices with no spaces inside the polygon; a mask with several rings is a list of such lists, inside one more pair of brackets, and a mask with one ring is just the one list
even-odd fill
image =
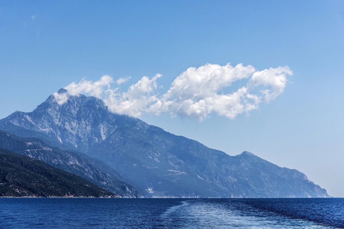
{"label": "pale rippled boat wake on the dark blue sea", "polygon": [[176,228],[176,225],[181,229],[334,229],[274,214],[245,214],[221,204],[202,200],[183,201],[181,205],[168,208],[161,217],[166,229]]}

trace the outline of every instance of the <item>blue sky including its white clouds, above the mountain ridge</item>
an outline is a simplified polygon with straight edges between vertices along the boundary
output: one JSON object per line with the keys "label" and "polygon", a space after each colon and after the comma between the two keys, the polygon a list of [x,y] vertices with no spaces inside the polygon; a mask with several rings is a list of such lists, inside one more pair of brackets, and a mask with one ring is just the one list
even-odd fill
{"label": "blue sky including its white clouds, above the mountain ridge", "polygon": [[69,85],[344,197],[343,41],[343,1],[0,1],[0,118]]}

